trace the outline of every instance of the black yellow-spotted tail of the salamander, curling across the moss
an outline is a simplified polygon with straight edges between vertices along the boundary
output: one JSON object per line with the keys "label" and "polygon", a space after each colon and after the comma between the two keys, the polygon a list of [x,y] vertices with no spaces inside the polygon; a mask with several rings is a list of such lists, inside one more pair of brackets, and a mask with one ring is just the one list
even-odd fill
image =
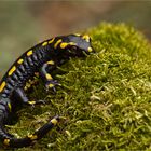
{"label": "black yellow-spotted tail of the salamander, curling across the moss", "polygon": [[[30,146],[33,141],[42,138],[49,131],[51,131],[58,122],[59,116],[54,116],[50,122],[44,124],[38,131],[36,131],[32,135],[28,135],[25,138],[15,138],[11,134],[8,134],[3,126],[0,126],[0,139],[3,145],[10,148],[23,148]],[[1,124],[1,123],[0,123]]]}

